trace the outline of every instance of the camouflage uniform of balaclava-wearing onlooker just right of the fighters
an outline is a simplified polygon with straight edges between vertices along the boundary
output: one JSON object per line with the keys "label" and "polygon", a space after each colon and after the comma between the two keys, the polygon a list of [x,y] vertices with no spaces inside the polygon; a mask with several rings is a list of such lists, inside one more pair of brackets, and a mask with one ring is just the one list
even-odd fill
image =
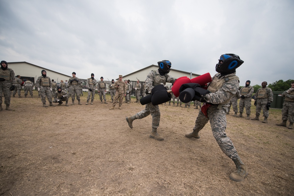
{"label": "camouflage uniform of balaclava-wearing onlooker just right of the fighters", "polygon": [[[254,88],[253,88],[253,86],[250,86],[250,85],[248,87],[243,86],[240,89],[239,96],[243,95],[245,97],[244,99],[240,98],[240,102],[239,102],[239,112],[240,113],[243,113],[244,107],[246,108],[246,114],[251,113],[251,99],[252,99],[251,96],[253,94],[253,91],[254,91]],[[237,109],[237,112],[238,112],[238,109]]]}

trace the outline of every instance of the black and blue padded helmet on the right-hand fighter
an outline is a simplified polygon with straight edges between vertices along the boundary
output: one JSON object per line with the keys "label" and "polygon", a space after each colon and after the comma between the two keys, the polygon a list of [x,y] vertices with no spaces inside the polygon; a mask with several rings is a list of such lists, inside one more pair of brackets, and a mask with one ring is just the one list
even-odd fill
{"label": "black and blue padded helmet on the right-hand fighter", "polygon": [[218,73],[233,71],[240,67],[242,63],[244,63],[244,61],[242,61],[238,55],[223,54],[220,56],[220,59],[218,59],[218,63],[216,64],[216,71]]}

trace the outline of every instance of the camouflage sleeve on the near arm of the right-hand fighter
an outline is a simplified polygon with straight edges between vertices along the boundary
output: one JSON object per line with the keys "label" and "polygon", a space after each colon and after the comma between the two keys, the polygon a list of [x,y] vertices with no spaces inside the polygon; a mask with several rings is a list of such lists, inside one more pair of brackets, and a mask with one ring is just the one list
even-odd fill
{"label": "camouflage sleeve on the near arm of the right-hand fighter", "polygon": [[239,88],[238,80],[228,81],[215,93],[208,93],[204,99],[212,104],[220,104],[233,97]]}

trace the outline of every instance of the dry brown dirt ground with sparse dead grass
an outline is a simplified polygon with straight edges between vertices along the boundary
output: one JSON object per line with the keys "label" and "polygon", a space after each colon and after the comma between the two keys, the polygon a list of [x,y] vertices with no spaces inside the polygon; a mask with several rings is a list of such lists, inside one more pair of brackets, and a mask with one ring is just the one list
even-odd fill
{"label": "dry brown dirt ground with sparse dead grass", "polygon": [[184,136],[198,109],[160,105],[165,140],[157,141],[150,115],[133,129],[126,122],[143,105],[132,98],[109,110],[107,99],[85,105],[84,93],[83,105],[44,108],[36,91],[11,98],[13,111],[0,112],[0,195],[293,195],[294,131],[275,125],[281,110],[270,109],[267,124],[227,115],[226,133],[249,170],[233,182],[235,165],[209,123],[200,139]]}

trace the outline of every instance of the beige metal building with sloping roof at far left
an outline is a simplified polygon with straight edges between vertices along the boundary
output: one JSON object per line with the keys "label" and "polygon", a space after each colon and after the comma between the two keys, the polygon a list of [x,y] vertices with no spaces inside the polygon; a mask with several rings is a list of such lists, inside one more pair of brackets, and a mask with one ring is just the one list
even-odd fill
{"label": "beige metal building with sloping roof at far left", "polygon": [[46,75],[52,80],[54,80],[56,83],[59,83],[60,80],[63,80],[64,82],[68,80],[71,76],[58,73],[56,71],[52,71],[50,69],[40,67],[31,63],[27,62],[7,62],[8,67],[11,68],[15,76],[20,75],[21,79],[28,78],[32,82],[36,82],[37,78],[41,76],[41,71],[44,69],[47,73]]}

